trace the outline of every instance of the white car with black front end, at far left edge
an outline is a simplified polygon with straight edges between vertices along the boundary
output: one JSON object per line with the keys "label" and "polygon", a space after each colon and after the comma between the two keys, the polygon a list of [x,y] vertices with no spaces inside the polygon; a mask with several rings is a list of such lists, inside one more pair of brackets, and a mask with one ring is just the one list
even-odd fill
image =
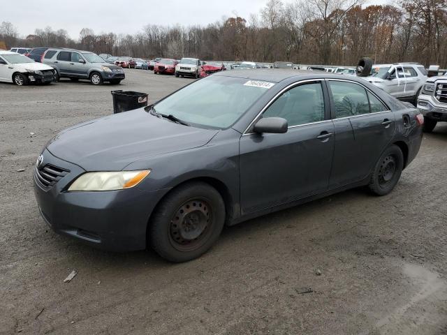
{"label": "white car with black front end, at far left edge", "polygon": [[56,71],[17,52],[0,51],[0,81],[24,86],[31,82],[50,84]]}

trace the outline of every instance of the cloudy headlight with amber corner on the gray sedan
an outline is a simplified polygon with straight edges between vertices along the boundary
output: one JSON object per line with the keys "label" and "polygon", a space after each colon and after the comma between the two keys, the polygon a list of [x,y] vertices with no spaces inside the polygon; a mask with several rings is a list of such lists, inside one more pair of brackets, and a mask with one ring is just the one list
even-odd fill
{"label": "cloudy headlight with amber corner on the gray sedan", "polygon": [[117,191],[140,184],[151,170],[119,172],[87,172],[68,188],[71,191]]}

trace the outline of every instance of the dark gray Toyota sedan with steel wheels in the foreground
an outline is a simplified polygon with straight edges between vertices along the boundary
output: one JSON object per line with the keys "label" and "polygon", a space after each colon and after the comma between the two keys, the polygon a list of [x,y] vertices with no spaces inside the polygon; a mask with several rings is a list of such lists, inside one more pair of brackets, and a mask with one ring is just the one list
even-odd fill
{"label": "dark gray Toyota sedan with steel wheels in the foreground", "polygon": [[184,262],[224,225],[358,186],[390,193],[422,124],[356,77],[221,72],[62,131],[38,157],[34,189],[56,232]]}

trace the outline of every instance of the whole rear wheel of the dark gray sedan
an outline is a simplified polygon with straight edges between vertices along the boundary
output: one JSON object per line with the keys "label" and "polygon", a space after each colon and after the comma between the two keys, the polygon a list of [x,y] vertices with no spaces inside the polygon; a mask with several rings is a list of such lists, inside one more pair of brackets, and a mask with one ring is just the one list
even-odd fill
{"label": "whole rear wheel of the dark gray sedan", "polygon": [[369,190],[375,195],[387,195],[396,186],[404,168],[404,154],[397,145],[388,147],[377,161],[369,181]]}

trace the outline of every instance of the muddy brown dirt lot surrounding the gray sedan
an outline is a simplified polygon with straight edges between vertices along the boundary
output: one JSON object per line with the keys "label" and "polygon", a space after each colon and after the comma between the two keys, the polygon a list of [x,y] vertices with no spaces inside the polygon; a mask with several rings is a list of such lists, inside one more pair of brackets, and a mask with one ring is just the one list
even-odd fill
{"label": "muddy brown dirt lot surrounding the gray sedan", "polygon": [[191,82],[126,75],[0,84],[0,334],[447,334],[447,126],[390,195],[356,189],[256,218],[186,264],[48,230],[32,191],[47,140],[111,114],[112,89],[155,101]]}

